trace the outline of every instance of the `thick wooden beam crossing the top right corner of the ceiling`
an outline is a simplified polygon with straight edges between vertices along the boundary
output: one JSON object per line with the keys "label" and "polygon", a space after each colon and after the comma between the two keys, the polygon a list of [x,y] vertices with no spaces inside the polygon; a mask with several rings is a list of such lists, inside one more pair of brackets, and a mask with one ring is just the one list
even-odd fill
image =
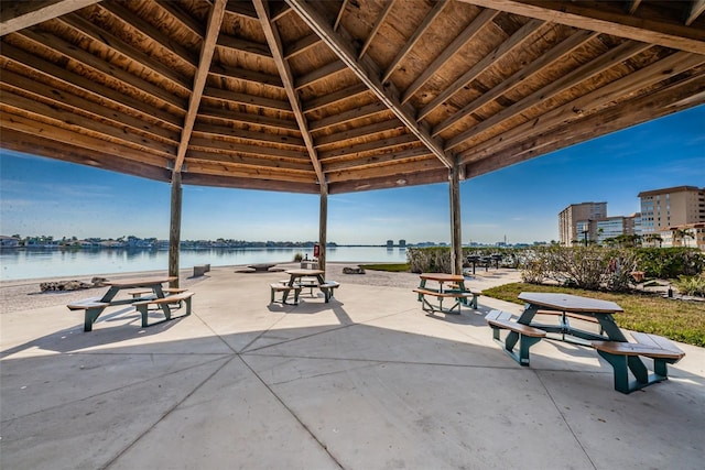
{"label": "thick wooden beam crossing the top right corner of the ceiling", "polygon": [[619,7],[619,2],[599,2],[599,8],[593,8],[584,6],[583,2],[556,0],[460,1],[522,17],[705,55],[705,30],[690,28],[675,22],[669,23],[662,19],[631,15]]}

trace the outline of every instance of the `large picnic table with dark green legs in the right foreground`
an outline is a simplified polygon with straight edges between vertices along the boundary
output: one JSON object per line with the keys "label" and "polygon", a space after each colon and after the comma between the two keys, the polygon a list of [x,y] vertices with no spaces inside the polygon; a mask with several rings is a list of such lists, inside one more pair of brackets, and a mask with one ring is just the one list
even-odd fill
{"label": "large picnic table with dark green legs in the right foreground", "polygon": [[[614,314],[623,309],[614,302],[582,297],[571,294],[522,292],[519,298],[525,302],[524,309],[517,319],[510,321],[509,316],[492,311],[487,323],[492,327],[495,339],[499,339],[499,330],[509,330],[505,341],[505,350],[521,365],[529,365],[529,348],[547,338],[546,334],[560,334],[550,338],[571,341],[594,348],[609,362],[614,369],[615,390],[631,393],[652,383],[668,379],[666,364],[681,360],[685,353],[668,339],[641,332],[632,332],[636,342],[629,342],[625,332],[617,326]],[[540,324],[536,315],[557,313],[558,324]],[[571,324],[570,318],[594,319],[599,324],[599,331],[588,331]],[[519,342],[520,351],[514,352]],[[641,360],[641,357],[653,359],[653,373]],[[630,373],[634,380],[630,379]]]}

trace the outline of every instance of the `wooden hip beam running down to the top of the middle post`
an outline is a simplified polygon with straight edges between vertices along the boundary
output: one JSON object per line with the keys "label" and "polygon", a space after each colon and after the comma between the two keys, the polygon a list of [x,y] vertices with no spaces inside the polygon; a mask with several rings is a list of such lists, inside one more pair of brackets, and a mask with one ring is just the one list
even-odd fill
{"label": "wooden hip beam running down to the top of the middle post", "polygon": [[289,66],[289,63],[284,58],[284,47],[282,46],[282,40],[279,35],[279,30],[276,30],[276,23],[272,23],[272,21],[270,20],[269,7],[264,3],[264,0],[254,0],[253,3],[254,10],[257,11],[257,15],[260,19],[260,24],[262,25],[262,30],[264,32],[264,37],[267,37],[269,48],[270,51],[272,51],[272,56],[274,57],[276,69],[279,70],[282,84],[284,85],[284,89],[286,90],[289,103],[291,105],[292,111],[294,111],[294,118],[296,118],[296,123],[299,124],[304,144],[306,145],[308,156],[311,157],[311,163],[314,171],[316,172],[318,183],[321,184],[321,194],[327,194],[327,190],[325,188],[325,175],[323,174],[321,162],[318,161],[318,153],[313,143],[311,131],[308,130],[308,122],[306,121],[301,101],[299,100],[299,94],[296,92],[296,88],[294,86],[294,75],[291,70],[291,67]]}

